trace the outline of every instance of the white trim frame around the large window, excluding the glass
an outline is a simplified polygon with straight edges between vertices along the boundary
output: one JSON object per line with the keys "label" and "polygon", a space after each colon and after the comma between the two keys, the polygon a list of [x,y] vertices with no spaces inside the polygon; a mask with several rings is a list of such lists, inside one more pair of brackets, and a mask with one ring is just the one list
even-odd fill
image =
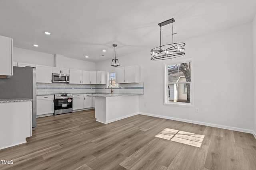
{"label": "white trim frame around the large window, excluding the glass", "polygon": [[[190,103],[182,103],[182,102],[169,102],[168,101],[168,68],[167,65],[169,64],[177,64],[177,63],[186,63],[190,62]],[[194,106],[194,75],[193,75],[193,60],[192,58],[188,59],[180,59],[180,60],[173,60],[170,62],[164,63],[164,105],[165,106],[178,106],[178,107],[193,107]]]}

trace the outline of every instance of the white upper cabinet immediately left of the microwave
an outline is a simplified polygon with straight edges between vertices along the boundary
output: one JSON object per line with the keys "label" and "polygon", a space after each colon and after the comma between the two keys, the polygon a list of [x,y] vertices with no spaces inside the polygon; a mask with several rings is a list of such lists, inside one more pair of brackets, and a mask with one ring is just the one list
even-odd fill
{"label": "white upper cabinet immediately left of the microwave", "polygon": [[52,67],[36,65],[36,82],[51,83],[52,82]]}

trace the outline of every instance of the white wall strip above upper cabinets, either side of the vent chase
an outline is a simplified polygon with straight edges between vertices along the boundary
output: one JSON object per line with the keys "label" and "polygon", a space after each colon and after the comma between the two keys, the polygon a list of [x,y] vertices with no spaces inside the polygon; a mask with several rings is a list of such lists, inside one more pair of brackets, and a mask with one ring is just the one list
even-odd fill
{"label": "white wall strip above upper cabinets, either side of the vent chase", "polygon": [[[46,66],[55,66],[53,54],[42,53],[18,47],[13,48],[13,61]],[[95,71],[95,63],[63,57],[63,67],[77,70]]]}

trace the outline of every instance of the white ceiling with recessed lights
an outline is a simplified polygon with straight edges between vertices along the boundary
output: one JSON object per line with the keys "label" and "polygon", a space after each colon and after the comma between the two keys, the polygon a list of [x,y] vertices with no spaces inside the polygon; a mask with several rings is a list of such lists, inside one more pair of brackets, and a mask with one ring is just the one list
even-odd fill
{"label": "white ceiling with recessed lights", "polygon": [[[176,20],[178,42],[250,23],[255,14],[256,0],[0,0],[0,35],[14,47],[85,61],[113,58],[112,44],[117,58],[148,49],[150,59],[162,21]],[[162,44],[170,43],[171,25],[162,27]]]}

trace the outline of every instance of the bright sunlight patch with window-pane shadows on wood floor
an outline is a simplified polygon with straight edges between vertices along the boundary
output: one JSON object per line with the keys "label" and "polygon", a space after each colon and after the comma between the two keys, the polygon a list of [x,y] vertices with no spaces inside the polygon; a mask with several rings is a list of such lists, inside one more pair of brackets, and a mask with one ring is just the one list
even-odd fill
{"label": "bright sunlight patch with window-pane shadows on wood floor", "polygon": [[204,135],[199,135],[196,133],[179,131],[179,130],[169,129],[169,128],[165,128],[160,133],[158,133],[155,137],[167,139],[167,140],[178,142],[178,143],[183,143],[186,145],[191,145],[198,148],[201,147],[202,142],[204,140]]}

